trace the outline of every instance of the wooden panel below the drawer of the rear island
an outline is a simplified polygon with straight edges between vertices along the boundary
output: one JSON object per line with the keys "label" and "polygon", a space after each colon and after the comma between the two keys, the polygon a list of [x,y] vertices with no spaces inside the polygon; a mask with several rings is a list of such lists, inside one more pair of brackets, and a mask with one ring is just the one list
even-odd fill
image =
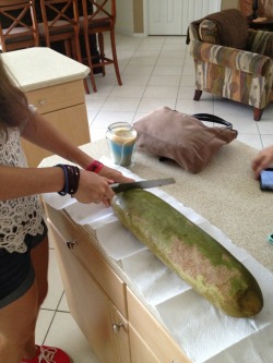
{"label": "wooden panel below the drawer of the rear island", "polygon": [[[44,117],[75,145],[80,146],[90,143],[85,104],[49,112],[44,114]],[[37,167],[44,158],[51,155],[51,153],[28,143],[26,140],[22,140],[22,145],[29,167]]]}

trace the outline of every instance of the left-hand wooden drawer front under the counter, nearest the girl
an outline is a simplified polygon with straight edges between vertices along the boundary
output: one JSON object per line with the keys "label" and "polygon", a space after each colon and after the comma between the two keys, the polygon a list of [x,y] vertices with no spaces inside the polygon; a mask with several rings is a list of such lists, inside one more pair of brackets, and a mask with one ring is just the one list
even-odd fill
{"label": "left-hand wooden drawer front under the counter, nearest the girl", "polygon": [[63,211],[48,205],[46,205],[46,211],[50,222],[63,237],[63,242],[73,243],[73,246],[70,247],[71,253],[91,273],[121,314],[127,317],[126,283],[92,244],[91,235],[81,230],[81,227],[75,225]]}

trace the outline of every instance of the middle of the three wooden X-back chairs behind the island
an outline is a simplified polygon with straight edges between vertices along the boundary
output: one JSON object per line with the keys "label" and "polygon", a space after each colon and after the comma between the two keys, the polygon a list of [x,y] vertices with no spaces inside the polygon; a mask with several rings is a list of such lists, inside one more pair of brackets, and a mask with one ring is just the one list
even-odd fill
{"label": "middle of the three wooden X-back chairs behind the island", "polygon": [[62,43],[68,57],[81,59],[79,10],[76,0],[40,0],[43,22],[38,23],[40,40],[50,48]]}

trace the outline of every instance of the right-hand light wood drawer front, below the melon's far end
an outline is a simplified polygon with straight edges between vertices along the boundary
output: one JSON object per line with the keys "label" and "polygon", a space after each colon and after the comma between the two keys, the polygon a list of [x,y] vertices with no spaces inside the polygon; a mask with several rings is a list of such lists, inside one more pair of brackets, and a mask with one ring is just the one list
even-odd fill
{"label": "right-hand light wood drawer front, below the melon's far end", "polygon": [[127,289],[127,300],[128,319],[130,325],[132,325],[132,327],[138,331],[151,351],[156,354],[159,362],[191,362],[164,329],[164,327],[156,322],[152,314],[129,289]]}

